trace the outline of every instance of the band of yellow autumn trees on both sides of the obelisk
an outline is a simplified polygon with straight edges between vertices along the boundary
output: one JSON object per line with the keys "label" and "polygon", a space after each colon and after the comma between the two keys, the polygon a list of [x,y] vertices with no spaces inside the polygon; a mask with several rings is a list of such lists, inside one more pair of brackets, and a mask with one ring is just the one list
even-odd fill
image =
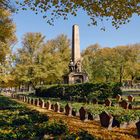
{"label": "band of yellow autumn trees on both sides of the obelisk", "polygon": [[[140,77],[140,44],[101,48],[90,45],[82,51],[83,69],[90,82],[120,82]],[[7,68],[1,85],[35,88],[37,85],[58,84],[68,72],[70,40],[64,34],[45,40],[41,33],[26,33]]]}

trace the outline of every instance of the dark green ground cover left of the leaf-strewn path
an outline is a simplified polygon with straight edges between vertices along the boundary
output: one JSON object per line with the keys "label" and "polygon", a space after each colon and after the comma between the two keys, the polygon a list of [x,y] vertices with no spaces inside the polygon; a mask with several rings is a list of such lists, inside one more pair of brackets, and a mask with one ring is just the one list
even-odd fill
{"label": "dark green ground cover left of the leaf-strewn path", "polygon": [[86,131],[69,133],[63,121],[49,122],[49,117],[35,110],[29,110],[6,97],[0,96],[0,139],[88,139],[95,138]]}

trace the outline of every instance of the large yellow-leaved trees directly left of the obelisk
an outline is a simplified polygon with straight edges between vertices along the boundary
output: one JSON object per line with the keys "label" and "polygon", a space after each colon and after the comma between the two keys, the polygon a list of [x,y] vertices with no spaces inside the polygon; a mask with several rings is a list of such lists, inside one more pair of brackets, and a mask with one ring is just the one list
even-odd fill
{"label": "large yellow-leaved trees directly left of the obelisk", "polygon": [[26,33],[22,48],[16,54],[13,75],[15,85],[28,85],[62,82],[68,71],[70,41],[65,35],[45,41],[41,33]]}

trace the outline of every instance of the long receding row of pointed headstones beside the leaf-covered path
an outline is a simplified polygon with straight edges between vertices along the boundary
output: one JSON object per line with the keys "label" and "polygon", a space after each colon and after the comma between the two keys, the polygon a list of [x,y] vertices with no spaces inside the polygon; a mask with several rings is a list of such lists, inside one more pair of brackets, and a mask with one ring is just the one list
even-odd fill
{"label": "long receding row of pointed headstones beside the leaf-covered path", "polygon": [[[12,94],[11,97],[19,99],[20,101],[41,107],[41,108],[46,108],[47,110],[53,110],[58,113],[63,112],[67,116],[78,116],[80,120],[82,121],[98,120],[100,121],[101,126],[106,127],[108,129],[111,129],[112,127],[124,128],[124,127],[127,127],[128,125],[128,123],[127,125],[126,124],[121,125],[119,121],[115,119],[115,117],[113,117],[111,114],[105,111],[103,111],[100,115],[93,116],[84,107],[81,107],[79,109],[79,112],[74,111],[72,106],[68,103],[65,106],[65,108],[62,108],[58,102],[56,102],[55,104],[52,104],[50,101],[45,102],[44,100],[39,99],[39,98],[31,98],[24,95],[16,95],[16,94]],[[137,127],[138,134],[140,136],[140,121],[136,123],[136,127]]]}

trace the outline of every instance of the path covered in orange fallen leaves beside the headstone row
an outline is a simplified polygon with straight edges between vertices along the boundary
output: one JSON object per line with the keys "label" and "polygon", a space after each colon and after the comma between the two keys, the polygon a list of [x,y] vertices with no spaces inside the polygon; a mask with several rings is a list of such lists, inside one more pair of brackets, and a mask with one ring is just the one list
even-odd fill
{"label": "path covered in orange fallen leaves beside the headstone row", "polygon": [[102,140],[135,140],[137,139],[136,127],[131,126],[126,129],[112,128],[112,130],[107,130],[101,127],[99,121],[86,121],[82,122],[78,117],[68,117],[63,113],[56,113],[40,107],[36,107],[21,101],[15,100],[21,105],[26,106],[31,110],[39,111],[40,113],[46,114],[49,117],[49,121],[53,122],[63,120],[70,130],[70,132],[77,132],[80,129],[88,131],[90,134],[95,136],[97,139]]}

